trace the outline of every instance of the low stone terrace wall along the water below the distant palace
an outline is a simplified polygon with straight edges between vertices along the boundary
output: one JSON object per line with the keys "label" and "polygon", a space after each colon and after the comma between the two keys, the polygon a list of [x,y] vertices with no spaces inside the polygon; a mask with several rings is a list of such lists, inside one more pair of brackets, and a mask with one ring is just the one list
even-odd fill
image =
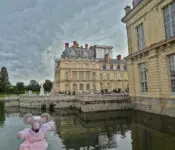
{"label": "low stone terrace wall along the water below the distant palace", "polygon": [[5,106],[41,108],[43,104],[55,104],[55,108],[77,108],[83,112],[107,111],[130,108],[128,94],[84,96],[21,96],[18,103],[6,102]]}

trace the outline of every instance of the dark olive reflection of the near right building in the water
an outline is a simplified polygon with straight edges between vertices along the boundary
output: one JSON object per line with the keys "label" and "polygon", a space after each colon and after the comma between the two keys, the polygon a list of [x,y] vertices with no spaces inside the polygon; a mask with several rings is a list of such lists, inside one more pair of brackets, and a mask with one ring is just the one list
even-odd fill
{"label": "dark olive reflection of the near right building in the water", "polygon": [[175,119],[137,112],[132,130],[133,150],[174,150]]}

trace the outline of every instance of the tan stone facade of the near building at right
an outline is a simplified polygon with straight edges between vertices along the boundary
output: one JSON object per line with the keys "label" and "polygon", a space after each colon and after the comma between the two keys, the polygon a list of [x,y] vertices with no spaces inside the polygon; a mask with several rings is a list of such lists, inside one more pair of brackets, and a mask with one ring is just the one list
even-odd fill
{"label": "tan stone facade of the near building at right", "polygon": [[[170,56],[175,56],[175,31],[168,37],[164,22],[165,9],[174,3],[172,0],[142,0],[132,9],[125,8],[122,21],[126,23],[128,35],[129,55],[125,59],[132,97],[175,99],[169,65]],[[141,83],[141,64],[146,66],[145,89]]]}

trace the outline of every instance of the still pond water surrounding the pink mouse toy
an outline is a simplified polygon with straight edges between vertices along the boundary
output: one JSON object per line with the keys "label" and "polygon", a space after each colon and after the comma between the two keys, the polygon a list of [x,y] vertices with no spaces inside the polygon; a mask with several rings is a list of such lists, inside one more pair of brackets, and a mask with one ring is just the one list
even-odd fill
{"label": "still pond water surrounding the pink mouse toy", "polygon": [[[18,150],[16,133],[26,126],[25,113],[41,110],[6,108],[0,104],[0,150]],[[51,114],[57,131],[47,136],[48,150],[175,150],[175,119],[137,111]]]}

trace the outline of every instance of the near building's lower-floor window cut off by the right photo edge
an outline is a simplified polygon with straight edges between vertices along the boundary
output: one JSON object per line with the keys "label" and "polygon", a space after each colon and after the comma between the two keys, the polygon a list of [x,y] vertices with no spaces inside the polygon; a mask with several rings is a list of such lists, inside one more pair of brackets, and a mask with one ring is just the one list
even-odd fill
{"label": "near building's lower-floor window cut off by the right photo edge", "polygon": [[175,93],[175,54],[169,56],[169,70],[171,80],[171,90]]}

